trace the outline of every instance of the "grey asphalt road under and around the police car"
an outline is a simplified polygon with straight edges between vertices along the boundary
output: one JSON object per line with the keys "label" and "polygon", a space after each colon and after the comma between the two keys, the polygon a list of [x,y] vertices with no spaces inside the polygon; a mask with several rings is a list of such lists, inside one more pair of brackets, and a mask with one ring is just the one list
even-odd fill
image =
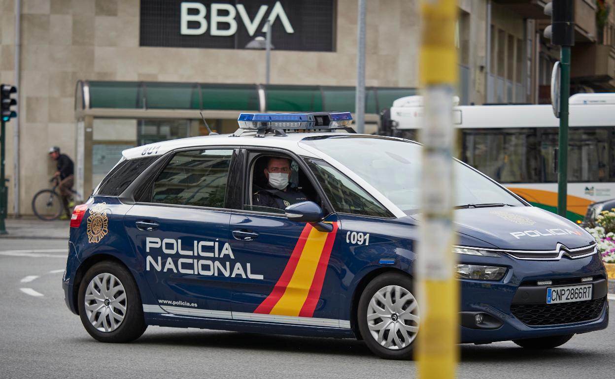
{"label": "grey asphalt road under and around the police car", "polygon": [[[415,362],[378,359],[356,340],[151,326],[133,343],[96,342],[64,303],[63,249],[63,240],[0,239],[2,378],[417,376]],[[512,342],[461,345],[458,377],[615,378],[614,313],[608,329],[576,335],[545,353]]]}

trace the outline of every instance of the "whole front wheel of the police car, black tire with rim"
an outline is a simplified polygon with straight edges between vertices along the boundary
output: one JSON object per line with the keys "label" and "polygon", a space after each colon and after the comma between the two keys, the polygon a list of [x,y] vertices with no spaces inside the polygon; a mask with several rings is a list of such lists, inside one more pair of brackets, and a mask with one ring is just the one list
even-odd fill
{"label": "whole front wheel of the police car, black tire with rim", "polygon": [[412,291],[410,276],[389,272],[372,279],[361,294],[357,307],[359,332],[380,358],[412,359],[419,321]]}

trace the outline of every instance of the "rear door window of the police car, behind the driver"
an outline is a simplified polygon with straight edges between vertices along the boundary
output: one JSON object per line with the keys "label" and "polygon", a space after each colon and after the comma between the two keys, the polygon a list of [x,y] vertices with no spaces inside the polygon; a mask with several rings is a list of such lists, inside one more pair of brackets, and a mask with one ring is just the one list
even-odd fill
{"label": "rear door window of the police car, behind the driver", "polygon": [[232,149],[178,152],[154,182],[152,203],[224,208]]}

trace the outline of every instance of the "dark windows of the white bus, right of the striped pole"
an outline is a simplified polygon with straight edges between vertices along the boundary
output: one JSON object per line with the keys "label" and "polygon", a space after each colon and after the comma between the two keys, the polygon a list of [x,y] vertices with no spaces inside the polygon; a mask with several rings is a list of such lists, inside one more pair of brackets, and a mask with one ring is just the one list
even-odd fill
{"label": "dark windows of the white bus, right of the striped pole", "polygon": [[[463,160],[501,183],[557,182],[557,128],[466,129]],[[568,182],[615,180],[615,130],[570,128]]]}

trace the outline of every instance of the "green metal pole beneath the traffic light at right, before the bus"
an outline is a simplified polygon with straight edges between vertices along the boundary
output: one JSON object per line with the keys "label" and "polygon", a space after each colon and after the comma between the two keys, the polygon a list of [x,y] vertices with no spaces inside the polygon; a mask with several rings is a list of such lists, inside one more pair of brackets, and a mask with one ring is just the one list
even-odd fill
{"label": "green metal pole beneath the traffic light at right, before the bus", "polygon": [[570,46],[560,53],[560,146],[557,173],[557,214],[566,217],[568,196],[568,98],[570,97]]}

